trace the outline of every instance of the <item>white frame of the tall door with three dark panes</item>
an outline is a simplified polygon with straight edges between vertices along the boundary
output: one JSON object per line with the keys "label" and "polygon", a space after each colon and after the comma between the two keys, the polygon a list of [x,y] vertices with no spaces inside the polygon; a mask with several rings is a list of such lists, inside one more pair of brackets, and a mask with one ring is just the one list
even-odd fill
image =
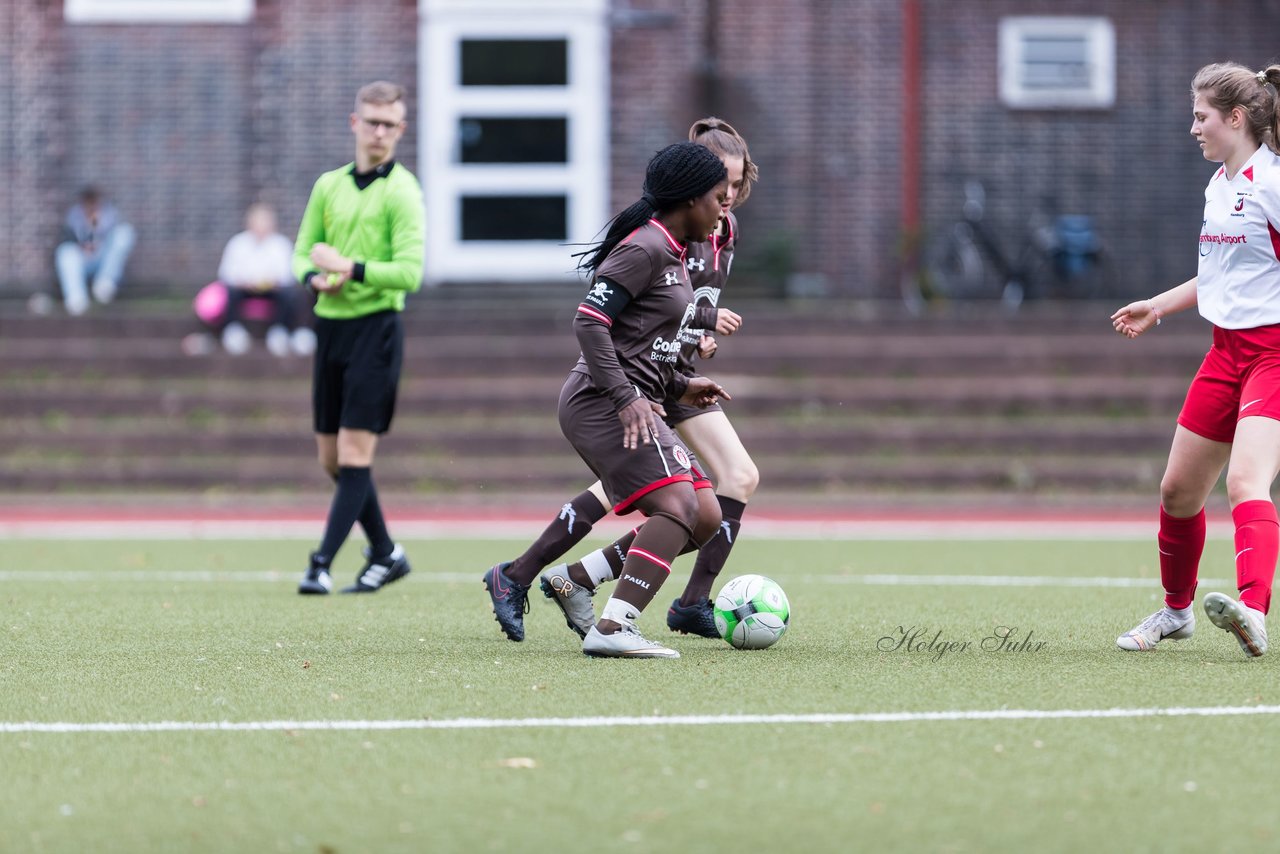
{"label": "white frame of the tall door with three dark panes", "polygon": [[[420,0],[419,170],[426,197],[424,279],[544,282],[572,278],[572,254],[608,219],[609,28],[607,0]],[[461,86],[460,45],[467,38],[563,38],[566,86]],[[462,164],[458,120],[479,117],[568,119],[563,164]],[[468,195],[563,195],[566,241],[463,241],[461,198]]]}

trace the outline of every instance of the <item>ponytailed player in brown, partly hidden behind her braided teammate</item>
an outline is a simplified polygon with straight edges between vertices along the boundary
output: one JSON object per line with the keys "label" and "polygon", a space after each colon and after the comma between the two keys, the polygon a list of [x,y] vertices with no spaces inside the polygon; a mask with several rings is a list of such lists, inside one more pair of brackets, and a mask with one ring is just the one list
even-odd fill
{"label": "ponytailed player in brown, partly hidden behind her braided teammate", "polygon": [[[680,370],[686,375],[696,373],[695,355],[703,359],[714,355],[717,347],[714,334],[730,335],[742,323],[737,314],[719,309],[718,301],[732,266],[739,233],[737,220],[728,211],[746,200],[759,175],[746,141],[723,119],[714,117],[699,119],[690,127],[689,138],[719,155],[728,172],[730,186],[724,202],[726,213],[716,233],[709,241],[690,243],[687,247],[685,266],[694,287],[696,311],[682,330]],[[699,551],[685,593],[668,609],[667,625],[673,631],[716,636],[708,597],[716,575],[724,566],[737,538],[742,510],[755,492],[759,474],[719,406],[701,410],[681,406],[676,401],[666,401],[663,406],[667,411],[667,424],[676,428],[698,458],[716,475],[716,495],[723,516],[719,534]],[[703,414],[710,414],[712,417],[695,419]],[[700,485],[708,484],[701,481]],[[609,503],[604,488],[600,483],[595,483],[566,502],[557,517],[520,557],[498,563],[486,572],[495,620],[508,638],[522,640],[525,636],[526,594],[532,580],[543,567],[585,538],[591,526],[608,512]],[[544,574],[543,593],[561,606],[568,626],[580,635],[585,636],[595,620],[589,592],[599,583],[617,577],[626,556],[626,547],[634,534],[635,531],[631,531],[623,542],[585,557],[582,565],[582,565],[573,567],[561,565]],[[570,568],[576,576],[576,583],[566,586]],[[502,595],[494,595],[495,590]],[[559,595],[557,590],[561,592]],[[566,597],[563,595],[566,590],[576,595]]]}

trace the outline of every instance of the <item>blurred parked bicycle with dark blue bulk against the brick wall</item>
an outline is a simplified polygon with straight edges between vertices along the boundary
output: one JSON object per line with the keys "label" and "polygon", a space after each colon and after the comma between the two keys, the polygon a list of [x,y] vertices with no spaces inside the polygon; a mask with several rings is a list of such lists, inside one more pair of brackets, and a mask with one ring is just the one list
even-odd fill
{"label": "blurred parked bicycle with dark blue bulk against the brick wall", "polygon": [[[965,182],[963,218],[929,245],[920,266],[902,282],[902,300],[918,314],[929,302],[991,300],[1016,311],[1024,300],[1048,292],[1093,294],[1089,277],[1100,257],[1092,219],[1079,214],[1033,224],[1016,252],[1009,252],[986,219],[987,191]],[[1088,287],[1070,288],[1075,283]]]}

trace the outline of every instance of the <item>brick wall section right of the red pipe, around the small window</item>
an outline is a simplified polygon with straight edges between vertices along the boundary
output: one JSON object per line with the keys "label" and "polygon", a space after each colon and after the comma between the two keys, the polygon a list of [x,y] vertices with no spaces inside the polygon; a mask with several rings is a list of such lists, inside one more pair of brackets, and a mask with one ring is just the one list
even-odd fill
{"label": "brick wall section right of the red pipe, around the small window", "polygon": [[[1010,238],[1038,211],[1092,215],[1117,296],[1146,296],[1196,274],[1203,189],[1212,175],[1189,136],[1190,82],[1204,64],[1261,68],[1280,56],[1276,4],[922,0],[924,198],[936,230],[959,218],[965,178],[987,187]],[[1009,110],[996,97],[996,20],[1105,14],[1116,31],[1111,110]]]}

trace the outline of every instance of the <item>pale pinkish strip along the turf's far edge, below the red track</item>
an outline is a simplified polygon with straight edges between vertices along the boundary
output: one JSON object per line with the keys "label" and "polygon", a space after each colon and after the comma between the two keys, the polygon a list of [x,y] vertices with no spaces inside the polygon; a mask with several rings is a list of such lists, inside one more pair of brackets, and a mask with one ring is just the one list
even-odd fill
{"label": "pale pinkish strip along the turf's far edge, below the red track", "polygon": [[[300,520],[14,520],[0,519],[4,539],[166,539],[166,540],[314,540],[323,528]],[[402,520],[392,519],[402,539],[529,540],[545,528],[545,520]],[[1152,540],[1155,521],[1134,520],[750,520],[751,536],[769,539],[827,540]],[[596,526],[599,535],[622,533],[627,525],[609,521]],[[1210,524],[1215,539],[1231,536],[1225,522]]]}

